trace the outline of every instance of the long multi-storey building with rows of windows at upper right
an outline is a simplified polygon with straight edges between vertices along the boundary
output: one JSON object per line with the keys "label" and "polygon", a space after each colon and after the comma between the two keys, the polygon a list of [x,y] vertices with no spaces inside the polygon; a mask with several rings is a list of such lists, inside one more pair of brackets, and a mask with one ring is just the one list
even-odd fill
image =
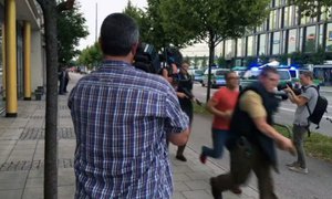
{"label": "long multi-storey building with rows of windows at upper right", "polygon": [[279,57],[294,52],[310,55],[324,51],[331,59],[331,12],[310,18],[301,15],[289,0],[271,0],[270,14],[263,24],[242,38],[224,41],[217,48],[218,55],[241,65],[246,65],[243,61],[248,57]]}

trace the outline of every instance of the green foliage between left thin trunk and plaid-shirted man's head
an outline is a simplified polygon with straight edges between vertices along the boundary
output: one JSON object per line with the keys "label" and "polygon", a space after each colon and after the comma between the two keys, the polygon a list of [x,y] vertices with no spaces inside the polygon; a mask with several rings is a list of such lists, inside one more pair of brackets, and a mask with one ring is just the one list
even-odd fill
{"label": "green foliage between left thin trunk and plaid-shirted man's head", "polygon": [[58,56],[60,64],[70,64],[70,61],[80,53],[80,51],[76,50],[80,39],[89,34],[85,21],[77,4],[71,10],[64,10],[59,13]]}

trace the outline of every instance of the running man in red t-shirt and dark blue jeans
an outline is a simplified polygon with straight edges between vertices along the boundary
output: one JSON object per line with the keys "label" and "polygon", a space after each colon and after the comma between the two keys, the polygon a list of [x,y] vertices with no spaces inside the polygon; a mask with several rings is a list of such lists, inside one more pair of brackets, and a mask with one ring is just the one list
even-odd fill
{"label": "running man in red t-shirt and dark blue jeans", "polygon": [[[229,132],[230,118],[239,95],[239,76],[230,71],[225,74],[226,86],[219,88],[207,103],[207,109],[214,115],[211,137],[212,148],[203,146],[199,160],[205,164],[207,157],[221,158],[224,146],[231,136]],[[235,193],[241,193],[241,189],[231,189]]]}

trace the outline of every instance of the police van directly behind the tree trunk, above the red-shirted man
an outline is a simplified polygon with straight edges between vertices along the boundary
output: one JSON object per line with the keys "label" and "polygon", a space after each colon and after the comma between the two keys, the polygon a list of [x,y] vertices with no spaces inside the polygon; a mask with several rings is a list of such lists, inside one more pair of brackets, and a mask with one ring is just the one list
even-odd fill
{"label": "police van directly behind the tree trunk, above the red-shirted man", "polygon": [[[229,69],[211,69],[211,87],[219,87],[226,85],[225,74]],[[208,85],[208,69],[204,72],[201,86]]]}

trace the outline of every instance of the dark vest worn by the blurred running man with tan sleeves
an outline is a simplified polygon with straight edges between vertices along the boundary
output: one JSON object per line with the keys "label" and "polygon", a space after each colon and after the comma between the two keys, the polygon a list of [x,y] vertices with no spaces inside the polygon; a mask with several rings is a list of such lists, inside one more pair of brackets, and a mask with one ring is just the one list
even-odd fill
{"label": "dark vest worn by the blurred running man with tan sleeves", "polygon": [[[239,97],[241,97],[241,95],[249,90],[256,92],[261,96],[262,105],[267,111],[267,122],[268,124],[272,125],[272,115],[277,112],[279,100],[276,98],[274,94],[269,93],[261,83],[251,84],[240,93]],[[239,102],[240,101],[238,101],[237,103],[234,116],[230,122],[231,134],[235,134],[235,137],[245,136],[249,140],[249,143],[261,149],[266,158],[277,170],[277,154],[274,140],[266,136],[256,127],[253,119],[249,116],[249,114],[240,109]],[[236,139],[237,138],[229,140],[228,146],[230,147],[230,149],[236,146]]]}

